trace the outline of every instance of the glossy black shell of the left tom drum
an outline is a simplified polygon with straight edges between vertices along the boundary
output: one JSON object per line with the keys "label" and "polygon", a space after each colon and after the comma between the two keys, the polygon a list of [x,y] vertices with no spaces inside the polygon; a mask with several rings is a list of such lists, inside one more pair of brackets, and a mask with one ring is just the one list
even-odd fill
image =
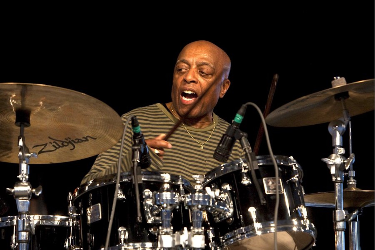
{"label": "glossy black shell of the left tom drum", "polygon": [[[142,172],[139,175],[142,179],[139,187],[139,201],[141,222],[137,221],[137,205],[135,187],[132,175],[129,172],[121,173],[120,187],[122,198],[117,199],[113,224],[111,227],[109,247],[120,244],[118,228],[124,227],[128,233],[126,244],[130,248],[155,249],[157,247],[158,229],[160,222],[148,222],[144,212],[145,190],[155,193],[162,189],[165,181],[156,172]],[[115,193],[116,176],[108,175],[92,181],[89,185],[81,186],[74,194],[73,204],[80,214],[81,225],[81,246],[83,249],[101,249],[105,246],[107,232],[112,212],[112,205]],[[187,180],[171,175],[171,180],[167,182],[173,192],[190,193],[193,187]],[[90,222],[87,209],[92,206],[101,207],[101,219]],[[179,203],[172,209],[171,229],[173,232],[182,231],[184,227],[191,225],[189,210]],[[153,233],[151,233],[151,231]]]}

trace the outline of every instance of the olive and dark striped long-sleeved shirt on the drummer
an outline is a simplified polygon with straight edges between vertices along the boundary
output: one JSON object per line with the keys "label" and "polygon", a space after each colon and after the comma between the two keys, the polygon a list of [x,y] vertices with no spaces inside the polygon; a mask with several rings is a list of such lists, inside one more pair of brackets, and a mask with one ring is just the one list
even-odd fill
{"label": "olive and dark striped long-sleeved shirt on the drummer", "polygon": [[[141,132],[145,139],[155,138],[160,133],[168,134],[171,129],[178,123],[175,118],[161,103],[133,109],[121,116],[124,124],[129,117],[135,115],[139,121]],[[199,142],[205,142],[211,135],[211,138],[204,143],[203,149],[192,139],[192,137],[184,129],[183,125],[177,129],[168,138],[168,142],[172,144],[172,148],[165,148],[163,159],[160,159],[152,150],[150,151],[151,165],[142,171],[151,171],[159,173],[168,173],[170,175],[181,176],[188,180],[191,184],[195,183],[192,175],[205,175],[211,169],[219,167],[223,162],[213,158],[213,153],[220,142],[222,135],[226,132],[229,123],[222,118],[213,114],[215,121],[210,126],[197,129],[195,127],[186,126],[191,136]],[[130,172],[132,169],[132,127],[128,122],[126,132],[124,133],[121,172]],[[101,153],[96,158],[94,165],[81,181],[81,185],[96,178],[117,173],[118,157],[120,155],[121,139],[112,148]],[[236,140],[231,155],[227,162],[233,162],[239,158],[243,158],[245,153]]]}

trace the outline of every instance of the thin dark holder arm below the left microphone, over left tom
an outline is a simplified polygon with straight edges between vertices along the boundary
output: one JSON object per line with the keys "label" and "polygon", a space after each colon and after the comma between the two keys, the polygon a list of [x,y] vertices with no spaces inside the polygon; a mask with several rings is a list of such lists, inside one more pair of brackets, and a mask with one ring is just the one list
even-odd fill
{"label": "thin dark holder arm below the left microphone, over left tom", "polygon": [[141,160],[141,145],[139,143],[134,143],[132,146],[133,150],[133,184],[135,188],[135,199],[136,199],[136,205],[137,205],[137,221],[142,222],[142,216],[141,216],[141,202],[139,201],[139,187],[138,184],[142,183],[142,178],[138,180],[138,174],[141,175],[141,168],[138,165],[138,163]]}

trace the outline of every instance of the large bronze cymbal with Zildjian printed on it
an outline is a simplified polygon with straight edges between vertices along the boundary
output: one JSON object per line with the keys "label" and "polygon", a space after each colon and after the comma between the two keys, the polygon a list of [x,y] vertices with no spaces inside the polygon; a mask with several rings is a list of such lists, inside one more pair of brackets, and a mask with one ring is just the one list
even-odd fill
{"label": "large bronze cymbal with Zildjian printed on it", "polygon": [[95,156],[115,145],[123,130],[120,115],[87,94],[43,84],[0,83],[1,162],[20,163],[20,124],[25,125],[23,144],[37,154],[30,164]]}

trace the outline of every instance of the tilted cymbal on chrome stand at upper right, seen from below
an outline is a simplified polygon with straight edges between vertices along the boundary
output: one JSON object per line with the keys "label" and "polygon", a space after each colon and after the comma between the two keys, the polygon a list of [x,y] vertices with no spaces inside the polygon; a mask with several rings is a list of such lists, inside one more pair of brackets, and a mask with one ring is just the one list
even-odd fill
{"label": "tilted cymbal on chrome stand at upper right, seen from below", "polygon": [[331,122],[343,117],[343,106],[335,95],[347,92],[346,109],[350,116],[374,110],[374,79],[353,82],[300,97],[266,117],[275,127],[299,127]]}

